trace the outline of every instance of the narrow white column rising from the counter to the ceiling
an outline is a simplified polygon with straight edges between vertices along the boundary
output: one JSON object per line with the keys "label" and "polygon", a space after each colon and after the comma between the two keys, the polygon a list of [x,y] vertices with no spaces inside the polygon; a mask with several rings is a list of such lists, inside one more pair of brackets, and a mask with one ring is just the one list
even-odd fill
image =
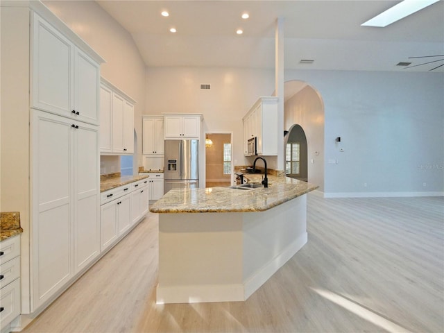
{"label": "narrow white column rising from the counter to the ceiling", "polygon": [[275,96],[278,97],[278,170],[284,170],[284,18],[276,19]]}

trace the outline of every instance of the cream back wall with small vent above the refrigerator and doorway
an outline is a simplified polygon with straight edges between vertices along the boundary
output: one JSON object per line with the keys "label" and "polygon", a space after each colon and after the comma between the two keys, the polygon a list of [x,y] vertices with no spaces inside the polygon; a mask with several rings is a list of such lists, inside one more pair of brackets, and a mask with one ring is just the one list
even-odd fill
{"label": "cream back wall with small vent above the refrigerator and doorway", "polygon": [[[271,96],[274,71],[204,67],[147,68],[146,83],[147,114],[202,113],[204,133],[233,132],[233,162],[234,165],[244,165],[242,118],[259,96]],[[200,89],[200,84],[210,84],[211,89]]]}

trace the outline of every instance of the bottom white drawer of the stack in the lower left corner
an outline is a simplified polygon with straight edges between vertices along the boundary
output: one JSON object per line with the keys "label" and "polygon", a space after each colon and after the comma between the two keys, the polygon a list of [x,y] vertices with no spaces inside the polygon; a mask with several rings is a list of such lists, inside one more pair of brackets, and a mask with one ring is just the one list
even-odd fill
{"label": "bottom white drawer of the stack in the lower left corner", "polygon": [[0,329],[20,314],[20,279],[0,289]]}

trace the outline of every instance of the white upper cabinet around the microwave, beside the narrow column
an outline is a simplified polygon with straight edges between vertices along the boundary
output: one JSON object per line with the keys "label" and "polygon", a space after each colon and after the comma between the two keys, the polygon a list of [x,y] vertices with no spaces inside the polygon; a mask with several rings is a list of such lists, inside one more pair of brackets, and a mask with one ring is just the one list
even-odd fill
{"label": "white upper cabinet around the microwave, beside the narrow column", "polygon": [[278,97],[259,97],[244,119],[244,151],[248,155],[247,142],[257,137],[257,155],[278,155]]}

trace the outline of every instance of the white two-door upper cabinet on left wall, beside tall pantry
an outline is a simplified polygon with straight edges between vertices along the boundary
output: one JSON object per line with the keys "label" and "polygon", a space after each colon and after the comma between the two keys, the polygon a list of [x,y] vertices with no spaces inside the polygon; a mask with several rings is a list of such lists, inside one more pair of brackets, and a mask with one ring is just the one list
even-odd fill
{"label": "white two-door upper cabinet on left wall, beside tall pantry", "polygon": [[100,86],[100,152],[134,153],[134,103],[130,96],[104,78]]}

